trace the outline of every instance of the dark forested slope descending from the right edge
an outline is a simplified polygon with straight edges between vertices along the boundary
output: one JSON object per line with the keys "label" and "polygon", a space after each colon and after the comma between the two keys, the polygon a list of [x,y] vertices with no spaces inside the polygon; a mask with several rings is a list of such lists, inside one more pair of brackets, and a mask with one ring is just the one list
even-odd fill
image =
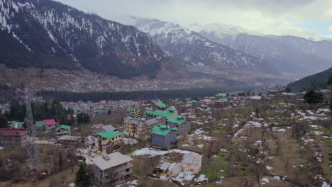
{"label": "dark forested slope descending from the right edge", "polygon": [[326,89],[328,85],[328,79],[332,75],[332,68],[326,69],[318,74],[313,74],[308,77],[304,77],[299,81],[294,81],[287,85],[287,88],[292,92],[306,91],[307,89]]}

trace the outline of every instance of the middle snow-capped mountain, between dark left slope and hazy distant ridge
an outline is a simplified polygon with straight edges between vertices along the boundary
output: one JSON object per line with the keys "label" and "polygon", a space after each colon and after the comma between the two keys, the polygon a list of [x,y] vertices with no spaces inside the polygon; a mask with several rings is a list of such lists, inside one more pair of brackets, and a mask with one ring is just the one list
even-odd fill
{"label": "middle snow-capped mountain, between dark left slope and hazy distant ridge", "polygon": [[158,45],[181,57],[188,64],[218,69],[254,68],[262,72],[276,73],[273,67],[264,60],[212,42],[176,23],[138,18],[135,27],[148,33]]}

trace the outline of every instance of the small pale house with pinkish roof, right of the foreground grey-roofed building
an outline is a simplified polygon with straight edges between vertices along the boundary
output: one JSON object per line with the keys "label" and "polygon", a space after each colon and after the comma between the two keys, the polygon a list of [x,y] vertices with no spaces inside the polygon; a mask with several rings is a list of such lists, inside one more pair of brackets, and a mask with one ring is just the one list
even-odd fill
{"label": "small pale house with pinkish roof, right of the foreground grey-roofed building", "polygon": [[184,154],[182,159],[182,171],[192,171],[195,174],[201,169],[201,155],[195,152]]}

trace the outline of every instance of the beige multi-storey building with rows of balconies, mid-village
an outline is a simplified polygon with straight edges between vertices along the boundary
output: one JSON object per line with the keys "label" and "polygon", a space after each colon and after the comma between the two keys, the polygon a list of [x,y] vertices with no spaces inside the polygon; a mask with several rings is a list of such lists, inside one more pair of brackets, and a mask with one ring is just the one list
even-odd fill
{"label": "beige multi-storey building with rows of balconies, mid-village", "polygon": [[123,134],[138,140],[150,139],[151,130],[156,125],[165,124],[165,118],[158,116],[149,120],[127,117],[123,120]]}

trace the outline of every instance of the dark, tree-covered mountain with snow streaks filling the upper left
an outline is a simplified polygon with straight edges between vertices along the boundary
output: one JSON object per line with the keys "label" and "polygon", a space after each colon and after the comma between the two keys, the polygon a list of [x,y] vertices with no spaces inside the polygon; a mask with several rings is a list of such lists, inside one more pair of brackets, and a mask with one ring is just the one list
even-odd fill
{"label": "dark, tree-covered mountain with snow streaks filling the upper left", "polygon": [[0,0],[0,63],[154,77],[168,56],[133,26],[51,0]]}

